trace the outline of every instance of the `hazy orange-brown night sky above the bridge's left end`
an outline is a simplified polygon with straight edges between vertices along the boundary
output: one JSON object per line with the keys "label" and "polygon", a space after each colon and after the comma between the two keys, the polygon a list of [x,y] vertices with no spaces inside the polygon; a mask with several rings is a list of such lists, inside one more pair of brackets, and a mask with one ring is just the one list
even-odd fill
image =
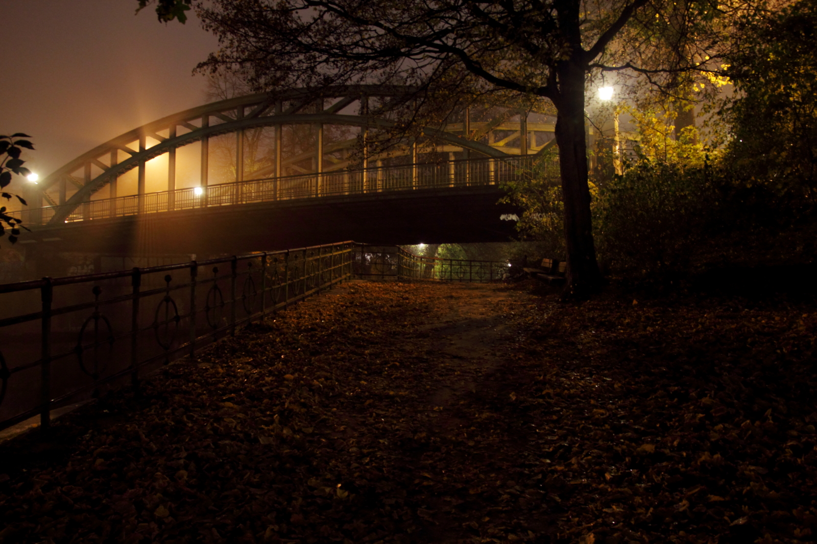
{"label": "hazy orange-brown night sky above the bridge's left end", "polygon": [[217,40],[191,17],[160,24],[136,0],[0,0],[0,134],[25,132],[40,175],[96,145],[204,103],[194,66]]}

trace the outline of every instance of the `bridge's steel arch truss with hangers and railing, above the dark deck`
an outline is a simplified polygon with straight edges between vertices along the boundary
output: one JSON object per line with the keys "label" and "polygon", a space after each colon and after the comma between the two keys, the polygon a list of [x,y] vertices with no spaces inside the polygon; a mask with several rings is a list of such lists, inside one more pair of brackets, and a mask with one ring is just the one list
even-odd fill
{"label": "bridge's steel arch truss with hangers and railing, above the dark deck", "polygon": [[[400,179],[403,188],[430,186],[423,180],[434,179],[439,186],[497,183],[519,170],[520,161],[551,147],[554,126],[549,122],[529,122],[527,114],[518,121],[505,113],[502,117],[472,122],[470,114],[458,123],[427,127],[423,135],[435,142],[436,153],[448,153],[440,164],[419,163],[416,142],[368,156],[362,163],[348,160],[368,131],[389,130],[393,122],[377,108],[369,109],[369,100],[387,104],[400,100],[405,89],[393,86],[344,86],[324,93],[320,99],[306,91],[294,90],[280,95],[258,94],[221,100],[163,117],[101,144],[56,170],[38,184],[24,220],[32,225],[56,227],[77,220],[113,218],[153,211],[181,210],[190,207],[235,204],[255,200],[318,197],[328,194],[380,191],[387,179]],[[304,153],[283,155],[283,127],[313,127],[314,148]],[[336,142],[324,142],[325,126],[358,127],[358,135]],[[273,127],[274,157],[247,175],[244,170],[244,135],[248,130]],[[234,180],[229,184],[208,184],[212,139],[235,134]],[[524,137],[523,137],[524,135]],[[176,187],[176,150],[200,144],[200,180],[194,187]],[[459,158],[455,158],[458,153]],[[167,190],[146,192],[149,161],[167,155]],[[403,157],[398,168],[383,166],[383,161]],[[299,162],[311,161],[304,170]],[[121,195],[118,179],[136,170],[135,194]],[[300,170],[300,171],[299,171]],[[310,170],[310,171],[307,171]],[[294,174],[292,174],[294,172]],[[391,174],[390,174],[391,172]],[[473,179],[471,179],[473,178]],[[478,179],[479,178],[479,179]],[[103,191],[108,188],[107,194]],[[69,195],[69,192],[73,194]],[[100,198],[101,197],[101,198]],[[33,200],[31,202],[30,200]]]}

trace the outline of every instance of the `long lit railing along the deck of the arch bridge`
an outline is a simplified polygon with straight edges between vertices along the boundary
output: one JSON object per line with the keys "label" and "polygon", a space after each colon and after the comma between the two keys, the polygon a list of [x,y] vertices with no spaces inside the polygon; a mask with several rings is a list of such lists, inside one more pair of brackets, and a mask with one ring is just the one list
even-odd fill
{"label": "long lit railing along the deck of the arch bridge", "polygon": [[44,225],[60,210],[70,210],[65,223],[74,223],[253,202],[502,184],[529,175],[534,160],[533,156],[479,158],[248,179],[231,184],[105,198],[83,202],[76,207],[63,205],[25,209],[22,219],[29,226]]}

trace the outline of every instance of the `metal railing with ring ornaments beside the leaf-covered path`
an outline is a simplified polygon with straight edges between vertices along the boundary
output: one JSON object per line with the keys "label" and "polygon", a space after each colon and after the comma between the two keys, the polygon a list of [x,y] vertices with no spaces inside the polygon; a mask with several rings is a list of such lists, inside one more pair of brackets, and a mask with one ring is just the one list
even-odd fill
{"label": "metal railing with ring ornaments beside the leaf-covered path", "polygon": [[87,400],[352,277],[492,281],[505,263],[344,241],[0,285],[0,431]]}

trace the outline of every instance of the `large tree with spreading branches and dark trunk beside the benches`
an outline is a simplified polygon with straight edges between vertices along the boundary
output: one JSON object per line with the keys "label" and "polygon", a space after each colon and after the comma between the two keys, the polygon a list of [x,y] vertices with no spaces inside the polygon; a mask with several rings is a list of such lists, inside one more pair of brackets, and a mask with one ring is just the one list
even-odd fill
{"label": "large tree with spreading branches and dark trunk beside the benches", "polygon": [[[149,0],[140,0],[141,7]],[[365,2],[159,0],[160,20],[195,7],[221,48],[200,69],[240,69],[253,88],[400,84],[414,125],[498,96],[556,109],[568,290],[600,285],[587,184],[585,90],[600,74],[667,91],[720,69],[740,7],[670,0]],[[408,111],[404,109],[404,111]]]}

